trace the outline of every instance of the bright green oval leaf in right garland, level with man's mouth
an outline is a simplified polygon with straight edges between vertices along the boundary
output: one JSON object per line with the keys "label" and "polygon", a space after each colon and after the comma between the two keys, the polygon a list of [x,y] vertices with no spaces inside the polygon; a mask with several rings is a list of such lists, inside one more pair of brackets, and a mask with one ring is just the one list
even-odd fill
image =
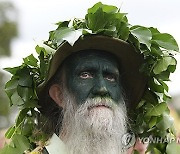
{"label": "bright green oval leaf in right garland, level with man's mouth", "polygon": [[146,116],[159,116],[161,115],[165,110],[167,109],[167,104],[166,103],[160,103],[155,106],[151,106],[147,113]]}

